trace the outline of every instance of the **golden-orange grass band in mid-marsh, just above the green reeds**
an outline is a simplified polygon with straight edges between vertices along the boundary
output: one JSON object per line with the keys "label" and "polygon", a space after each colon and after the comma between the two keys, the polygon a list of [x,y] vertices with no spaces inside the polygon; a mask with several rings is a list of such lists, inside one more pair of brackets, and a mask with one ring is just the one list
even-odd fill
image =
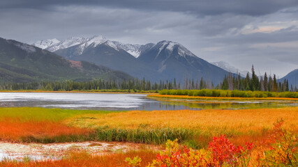
{"label": "golden-orange grass band in mid-marsh, just above the green reeds", "polygon": [[[92,119],[88,119],[92,118]],[[109,126],[137,128],[184,127],[210,131],[237,129],[241,132],[260,131],[271,127],[278,118],[285,120],[285,127],[298,130],[298,107],[281,109],[241,109],[241,110],[174,110],[174,111],[128,111],[102,115],[87,114],[66,120],[68,125],[78,127]]]}

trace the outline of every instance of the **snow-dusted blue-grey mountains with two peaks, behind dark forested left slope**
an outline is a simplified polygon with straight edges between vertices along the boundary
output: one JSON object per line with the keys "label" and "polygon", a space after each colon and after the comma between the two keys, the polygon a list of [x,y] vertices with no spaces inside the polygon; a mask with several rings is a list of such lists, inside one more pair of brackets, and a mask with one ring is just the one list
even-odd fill
{"label": "snow-dusted blue-grey mountains with two peaks, behind dark forested left slope", "polygon": [[183,45],[167,40],[156,44],[132,45],[96,35],[61,41],[43,40],[33,45],[73,61],[89,61],[151,81],[176,79],[184,84],[185,79],[196,80],[203,77],[205,81],[216,85],[229,73],[195,56]]}

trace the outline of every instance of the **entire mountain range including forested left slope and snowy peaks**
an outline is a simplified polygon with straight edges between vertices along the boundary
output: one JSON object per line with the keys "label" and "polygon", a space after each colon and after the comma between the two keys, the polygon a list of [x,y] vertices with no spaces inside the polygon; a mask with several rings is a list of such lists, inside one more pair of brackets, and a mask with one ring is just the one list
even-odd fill
{"label": "entire mountain range including forested left slope and snowy peaks", "polygon": [[[151,81],[200,79],[214,85],[229,72],[239,71],[223,61],[213,64],[183,45],[163,40],[156,44],[124,44],[101,35],[91,38],[41,40],[33,45],[0,38],[0,82],[61,81],[71,79],[132,79]],[[297,86],[298,69],[285,77]]]}

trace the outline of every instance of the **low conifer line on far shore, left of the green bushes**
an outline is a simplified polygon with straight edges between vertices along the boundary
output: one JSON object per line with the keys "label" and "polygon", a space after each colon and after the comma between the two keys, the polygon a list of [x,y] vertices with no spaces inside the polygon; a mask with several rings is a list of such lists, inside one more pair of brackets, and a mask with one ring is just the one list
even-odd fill
{"label": "low conifer line on far shore, left of the green bushes", "polygon": [[174,81],[160,81],[159,83],[146,79],[124,79],[103,80],[94,79],[91,81],[40,81],[31,83],[2,83],[1,90],[52,90],[52,91],[71,91],[71,90],[163,90],[163,89],[179,89],[180,84]]}

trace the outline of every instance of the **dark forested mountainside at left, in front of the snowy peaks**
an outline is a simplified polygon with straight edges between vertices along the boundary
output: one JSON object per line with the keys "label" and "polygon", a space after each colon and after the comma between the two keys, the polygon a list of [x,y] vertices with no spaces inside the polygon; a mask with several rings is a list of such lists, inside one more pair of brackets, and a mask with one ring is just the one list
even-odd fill
{"label": "dark forested mountainside at left, in front of the snowy peaks", "polygon": [[124,72],[84,61],[70,61],[50,51],[0,38],[0,81],[128,79]]}

